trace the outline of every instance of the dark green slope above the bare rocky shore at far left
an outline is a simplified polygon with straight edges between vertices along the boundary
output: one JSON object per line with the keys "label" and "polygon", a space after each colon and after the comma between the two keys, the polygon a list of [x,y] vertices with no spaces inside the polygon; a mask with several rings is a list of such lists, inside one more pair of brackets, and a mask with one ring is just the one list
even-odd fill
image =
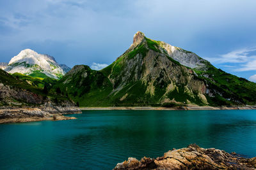
{"label": "dark green slope above the bare rocky shore at far left", "polygon": [[56,82],[52,78],[9,74],[0,69],[0,106],[38,106],[48,101],[58,104],[70,100],[58,91],[50,92]]}

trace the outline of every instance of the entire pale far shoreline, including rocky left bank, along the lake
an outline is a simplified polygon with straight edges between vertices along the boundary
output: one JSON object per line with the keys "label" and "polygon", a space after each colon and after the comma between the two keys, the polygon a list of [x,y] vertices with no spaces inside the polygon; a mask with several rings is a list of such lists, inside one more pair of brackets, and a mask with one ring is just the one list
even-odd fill
{"label": "entire pale far shoreline, including rocky left bank, along the lake", "polygon": [[[49,108],[48,108],[49,109]],[[62,111],[50,110],[46,111],[42,108],[8,108],[3,110],[0,108],[0,116],[5,112],[6,117],[0,118],[0,124],[18,123],[18,122],[38,122],[44,120],[74,120],[76,117],[65,117],[65,115],[82,113],[77,108],[68,110],[68,107],[62,108]],[[179,106],[173,108],[152,107],[152,106],[132,106],[132,107],[80,107],[79,110],[256,110],[256,106]],[[74,112],[72,112],[74,111]],[[52,112],[52,113],[51,113]],[[62,112],[62,113],[61,113]],[[20,115],[21,113],[21,115]]]}

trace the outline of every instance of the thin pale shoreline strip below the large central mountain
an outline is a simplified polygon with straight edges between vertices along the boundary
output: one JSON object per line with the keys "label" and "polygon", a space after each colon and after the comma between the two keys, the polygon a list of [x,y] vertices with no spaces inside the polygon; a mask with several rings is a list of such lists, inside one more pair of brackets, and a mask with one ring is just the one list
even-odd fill
{"label": "thin pale shoreline strip below the large central mountain", "polygon": [[152,107],[152,106],[131,106],[131,107],[79,107],[80,110],[256,110],[256,106],[180,106],[173,108]]}

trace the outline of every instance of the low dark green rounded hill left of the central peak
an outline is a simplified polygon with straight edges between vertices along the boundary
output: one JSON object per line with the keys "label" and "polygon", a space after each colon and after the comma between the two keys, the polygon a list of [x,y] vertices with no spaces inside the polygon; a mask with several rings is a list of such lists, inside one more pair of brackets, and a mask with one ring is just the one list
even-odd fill
{"label": "low dark green rounded hill left of the central peak", "polygon": [[78,102],[80,106],[109,106],[108,94],[112,90],[109,79],[88,66],[79,67],[83,69],[72,76],[63,76],[51,90],[60,88],[61,93]]}

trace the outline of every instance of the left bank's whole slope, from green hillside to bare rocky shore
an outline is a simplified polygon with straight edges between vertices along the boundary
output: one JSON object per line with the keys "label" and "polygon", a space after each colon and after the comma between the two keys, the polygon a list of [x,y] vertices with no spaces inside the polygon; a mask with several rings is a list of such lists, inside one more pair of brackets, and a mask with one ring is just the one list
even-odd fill
{"label": "left bank's whole slope, from green hillside to bare rocky shore", "polygon": [[68,120],[74,118],[62,114],[81,113],[69,99],[43,93],[44,90],[0,69],[0,123]]}

